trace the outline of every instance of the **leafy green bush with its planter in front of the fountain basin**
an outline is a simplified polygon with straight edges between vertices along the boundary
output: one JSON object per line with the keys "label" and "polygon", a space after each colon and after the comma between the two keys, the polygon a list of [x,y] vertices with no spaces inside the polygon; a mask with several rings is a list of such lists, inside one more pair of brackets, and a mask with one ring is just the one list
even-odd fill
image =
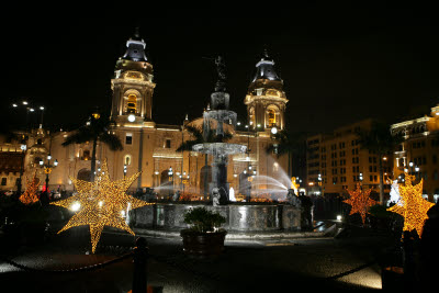
{"label": "leafy green bush with its planter in front of the fountain basin", "polygon": [[180,232],[183,251],[191,256],[217,256],[224,250],[227,232],[219,228],[226,218],[205,207],[190,209],[184,213],[184,223],[190,227]]}

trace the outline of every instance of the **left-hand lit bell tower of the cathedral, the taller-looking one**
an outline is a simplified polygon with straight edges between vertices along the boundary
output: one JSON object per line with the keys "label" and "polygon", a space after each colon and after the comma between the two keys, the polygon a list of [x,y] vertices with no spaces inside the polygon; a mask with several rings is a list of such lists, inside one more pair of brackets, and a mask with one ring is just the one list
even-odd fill
{"label": "left-hand lit bell tower of the cathedral, the taller-looking one", "polygon": [[116,123],[143,124],[153,121],[153,65],[145,54],[146,43],[140,38],[138,29],[126,42],[126,52],[116,61],[111,117]]}

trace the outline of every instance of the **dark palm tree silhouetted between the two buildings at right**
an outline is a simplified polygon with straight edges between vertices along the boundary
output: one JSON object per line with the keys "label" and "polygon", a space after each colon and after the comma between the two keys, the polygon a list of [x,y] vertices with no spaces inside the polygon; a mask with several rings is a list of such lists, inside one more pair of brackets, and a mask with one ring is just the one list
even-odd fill
{"label": "dark palm tree silhouetted between the two buildings at right", "polygon": [[378,155],[380,172],[380,204],[384,204],[384,169],[383,157],[392,154],[404,138],[402,135],[392,135],[386,123],[374,121],[369,131],[356,131],[361,148]]}

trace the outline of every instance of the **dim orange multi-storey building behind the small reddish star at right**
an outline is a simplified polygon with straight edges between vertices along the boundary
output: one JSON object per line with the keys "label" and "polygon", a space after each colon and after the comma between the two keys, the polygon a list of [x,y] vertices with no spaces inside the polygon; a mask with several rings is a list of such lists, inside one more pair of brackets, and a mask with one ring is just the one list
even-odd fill
{"label": "dim orange multi-storey building behind the small reddish star at right", "polygon": [[[358,182],[379,193],[379,156],[362,149],[356,129],[370,129],[372,120],[364,120],[339,127],[330,134],[318,134],[307,138],[308,194],[337,194],[353,190]],[[392,159],[383,160],[384,180],[391,178]],[[389,192],[389,185],[384,185]]]}

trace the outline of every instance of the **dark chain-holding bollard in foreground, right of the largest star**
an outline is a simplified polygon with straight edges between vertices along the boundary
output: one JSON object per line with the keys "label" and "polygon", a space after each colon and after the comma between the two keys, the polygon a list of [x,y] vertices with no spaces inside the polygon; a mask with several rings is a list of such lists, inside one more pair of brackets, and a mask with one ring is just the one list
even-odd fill
{"label": "dark chain-holding bollard in foreground, right of the largest star", "polygon": [[147,275],[146,262],[148,259],[148,247],[146,239],[139,237],[136,239],[136,247],[134,248],[133,256],[133,293],[146,293],[147,290]]}

